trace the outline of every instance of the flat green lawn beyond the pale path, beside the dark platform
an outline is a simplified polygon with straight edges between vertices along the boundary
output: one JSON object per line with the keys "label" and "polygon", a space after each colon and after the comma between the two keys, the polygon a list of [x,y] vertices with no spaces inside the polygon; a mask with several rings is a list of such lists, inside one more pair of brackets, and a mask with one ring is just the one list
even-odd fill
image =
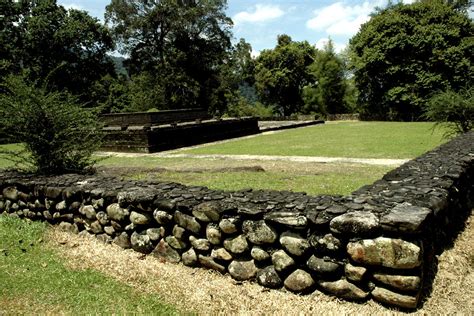
{"label": "flat green lawn beyond the pale path, beside the dark platform", "polygon": [[329,122],[184,150],[188,154],[247,154],[352,158],[415,158],[446,140],[433,123]]}

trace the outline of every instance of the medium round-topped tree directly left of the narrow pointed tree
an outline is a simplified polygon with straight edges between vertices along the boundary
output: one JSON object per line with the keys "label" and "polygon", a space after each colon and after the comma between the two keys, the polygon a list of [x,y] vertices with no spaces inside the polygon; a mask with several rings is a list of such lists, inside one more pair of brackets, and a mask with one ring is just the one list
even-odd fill
{"label": "medium round-topped tree directly left of the narrow pointed tree", "polygon": [[255,70],[256,88],[263,103],[275,105],[284,116],[300,111],[303,87],[311,82],[307,67],[315,53],[308,42],[294,42],[288,35],[279,35],[274,49],[263,50]]}

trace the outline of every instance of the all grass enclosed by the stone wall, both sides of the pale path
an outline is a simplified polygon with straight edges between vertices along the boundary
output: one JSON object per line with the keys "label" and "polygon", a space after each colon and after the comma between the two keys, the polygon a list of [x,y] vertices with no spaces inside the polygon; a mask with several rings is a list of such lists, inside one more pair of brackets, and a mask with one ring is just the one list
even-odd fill
{"label": "all grass enclosed by the stone wall, both sides of the pale path", "polygon": [[[249,154],[349,158],[413,158],[443,143],[431,123],[329,122],[294,130],[181,149],[187,154]],[[7,145],[9,149],[18,145]],[[4,147],[5,148],[5,147]],[[192,156],[191,156],[192,157]],[[0,168],[11,163],[0,159]],[[160,158],[111,157],[99,170],[132,179],[201,185],[218,190],[244,188],[349,194],[394,166]]]}

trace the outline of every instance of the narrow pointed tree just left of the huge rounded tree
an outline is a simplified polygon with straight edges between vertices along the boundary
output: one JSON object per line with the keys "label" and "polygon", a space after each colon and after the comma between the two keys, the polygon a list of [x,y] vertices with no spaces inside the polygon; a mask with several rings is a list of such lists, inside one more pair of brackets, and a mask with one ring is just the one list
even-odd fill
{"label": "narrow pointed tree just left of the huge rounded tree", "polygon": [[305,111],[322,114],[346,113],[344,63],[334,52],[331,40],[324,50],[317,52],[308,72],[314,78],[314,83],[306,86],[303,91]]}

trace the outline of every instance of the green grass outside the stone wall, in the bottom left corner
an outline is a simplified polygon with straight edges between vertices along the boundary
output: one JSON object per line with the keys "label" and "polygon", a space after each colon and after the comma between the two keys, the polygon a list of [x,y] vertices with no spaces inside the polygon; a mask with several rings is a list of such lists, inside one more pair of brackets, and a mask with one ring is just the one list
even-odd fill
{"label": "green grass outside the stone wall, in the bottom left corner", "polygon": [[45,230],[44,223],[0,215],[0,314],[178,314],[95,270],[67,268],[41,242]]}

